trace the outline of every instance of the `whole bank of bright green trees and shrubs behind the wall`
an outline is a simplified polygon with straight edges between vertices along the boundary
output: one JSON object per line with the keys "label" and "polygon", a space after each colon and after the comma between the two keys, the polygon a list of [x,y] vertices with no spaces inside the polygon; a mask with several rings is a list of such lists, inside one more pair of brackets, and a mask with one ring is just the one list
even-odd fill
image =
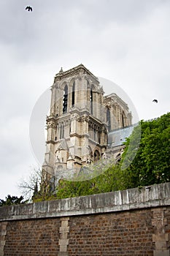
{"label": "whole bank of bright green trees and shrubs behind the wall", "polygon": [[141,121],[125,142],[120,165],[112,165],[88,181],[61,180],[56,197],[92,195],[170,181],[169,135],[170,113]]}

